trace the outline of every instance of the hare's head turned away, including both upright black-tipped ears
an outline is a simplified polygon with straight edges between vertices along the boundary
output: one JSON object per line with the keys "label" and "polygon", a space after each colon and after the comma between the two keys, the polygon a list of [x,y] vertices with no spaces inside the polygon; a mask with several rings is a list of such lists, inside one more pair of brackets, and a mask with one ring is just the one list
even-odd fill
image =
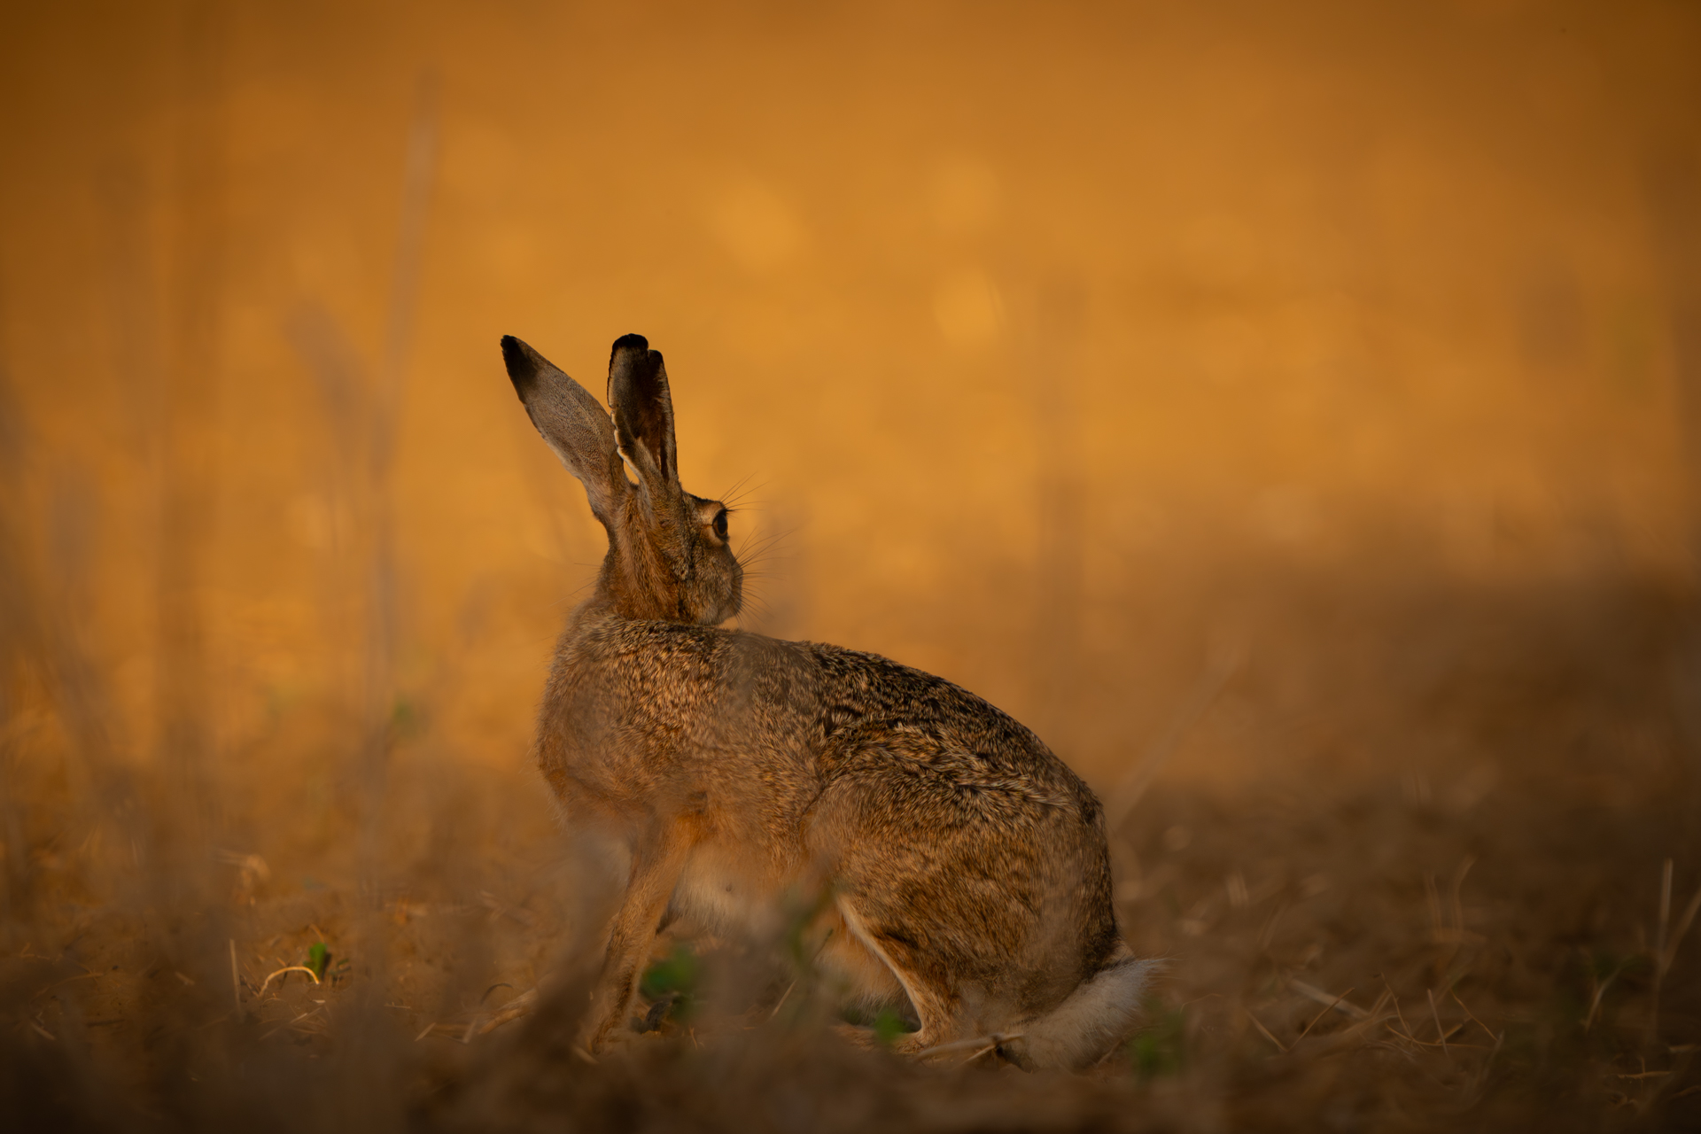
{"label": "hare's head turned away, including both upright black-tipped ears", "polygon": [[[585,485],[609,532],[600,593],[629,619],[714,626],[738,614],[743,568],[726,541],[726,505],[679,486],[674,400],[662,354],[643,335],[614,340],[609,405],[512,335],[502,340],[532,425]],[[626,479],[631,468],[638,483]]]}

